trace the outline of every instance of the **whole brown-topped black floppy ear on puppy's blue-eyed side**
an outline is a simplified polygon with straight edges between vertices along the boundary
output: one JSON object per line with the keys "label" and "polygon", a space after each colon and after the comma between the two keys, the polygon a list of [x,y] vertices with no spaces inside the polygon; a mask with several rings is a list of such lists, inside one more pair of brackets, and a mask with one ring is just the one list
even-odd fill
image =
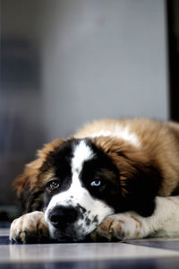
{"label": "whole brown-topped black floppy ear on puppy's blue-eyed side", "polygon": [[141,216],[151,215],[162,180],[157,164],[149,161],[140,149],[128,148],[117,155],[124,203]]}

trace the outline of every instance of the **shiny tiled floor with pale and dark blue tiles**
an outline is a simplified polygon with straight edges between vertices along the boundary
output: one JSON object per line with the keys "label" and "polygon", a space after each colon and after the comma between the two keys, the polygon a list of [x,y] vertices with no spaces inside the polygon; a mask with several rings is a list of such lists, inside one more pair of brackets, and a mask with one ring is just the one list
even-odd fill
{"label": "shiny tiled floor with pale and dark blue tiles", "polygon": [[0,229],[0,268],[179,268],[179,239],[12,245]]}

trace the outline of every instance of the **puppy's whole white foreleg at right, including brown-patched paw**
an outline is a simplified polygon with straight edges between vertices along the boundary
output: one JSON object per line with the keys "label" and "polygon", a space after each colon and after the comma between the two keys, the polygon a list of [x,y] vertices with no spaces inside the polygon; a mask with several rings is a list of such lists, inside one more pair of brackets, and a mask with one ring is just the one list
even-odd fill
{"label": "puppy's whole white foreleg at right, including brown-patched paw", "polygon": [[142,239],[179,236],[179,196],[157,197],[154,213],[141,217],[137,213],[108,216],[91,234],[91,239]]}

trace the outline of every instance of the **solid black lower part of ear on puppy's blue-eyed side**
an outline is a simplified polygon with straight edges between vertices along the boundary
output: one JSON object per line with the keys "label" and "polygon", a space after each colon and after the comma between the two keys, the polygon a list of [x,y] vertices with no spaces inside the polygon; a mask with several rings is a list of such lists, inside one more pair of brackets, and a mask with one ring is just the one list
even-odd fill
{"label": "solid black lower part of ear on puppy's blue-eyed side", "polygon": [[160,180],[161,175],[153,165],[136,163],[133,172],[124,180],[124,200],[129,209],[143,217],[150,216],[155,209]]}

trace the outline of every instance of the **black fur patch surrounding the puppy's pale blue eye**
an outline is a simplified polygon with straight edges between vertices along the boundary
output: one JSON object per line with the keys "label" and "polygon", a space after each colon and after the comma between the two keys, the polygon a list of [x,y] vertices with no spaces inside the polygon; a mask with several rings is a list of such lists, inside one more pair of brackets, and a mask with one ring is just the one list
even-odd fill
{"label": "black fur patch surrounding the puppy's pale blue eye", "polygon": [[[94,157],[83,163],[80,174],[82,186],[89,190],[90,195],[115,209],[115,204],[118,204],[116,196],[120,199],[121,195],[119,172],[107,154],[98,149],[90,140],[86,142],[94,153]],[[90,183],[94,180],[100,180],[99,187],[91,186]]]}

